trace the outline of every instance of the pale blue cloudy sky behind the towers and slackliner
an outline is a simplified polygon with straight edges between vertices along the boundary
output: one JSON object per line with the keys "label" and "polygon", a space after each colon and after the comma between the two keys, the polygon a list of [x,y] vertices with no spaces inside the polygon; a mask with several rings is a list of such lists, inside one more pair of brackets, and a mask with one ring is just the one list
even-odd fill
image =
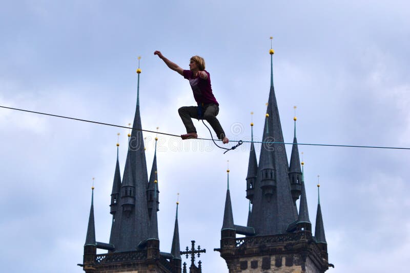
{"label": "pale blue cloudy sky behind the towers and slackliner", "polygon": [[[274,85],[285,141],[410,147],[410,4],[406,1],[2,1],[0,105],[127,125],[136,103],[145,129],[185,132],[177,109],[189,83],[153,55],[188,69],[204,57],[218,119],[234,140],[261,139]],[[209,137],[195,121],[200,137]],[[96,239],[108,242],[120,132],[0,109],[0,264],[4,272],[81,272],[95,177]],[[153,138],[147,137],[151,169]],[[197,145],[197,146],[195,146]],[[259,158],[260,146],[257,146]],[[291,146],[287,146],[290,157]],[[409,260],[410,151],[299,146],[310,219],[317,175],[329,272],[396,272]],[[181,247],[207,249],[203,272],[228,272],[219,247],[226,168],[234,221],[245,225],[249,145],[226,155],[210,142],[159,136],[160,249],[169,252],[180,193]],[[314,224],[313,224],[314,225]],[[314,228],[314,226],[313,226]],[[188,260],[187,260],[188,262]]]}

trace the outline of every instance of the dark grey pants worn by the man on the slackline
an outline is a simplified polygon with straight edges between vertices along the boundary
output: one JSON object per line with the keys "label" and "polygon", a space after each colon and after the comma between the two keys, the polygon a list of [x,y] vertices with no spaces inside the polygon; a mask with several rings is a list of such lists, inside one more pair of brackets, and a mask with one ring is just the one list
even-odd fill
{"label": "dark grey pants worn by the man on the slackline", "polygon": [[[216,119],[218,112],[219,107],[216,104],[208,104],[202,106],[203,119],[209,122],[212,129],[214,129],[217,138],[221,140],[225,137],[225,132],[223,131],[219,121]],[[178,109],[178,113],[182,119],[183,125],[185,125],[185,128],[187,128],[187,133],[196,133],[192,119],[198,119],[197,106],[183,106]]]}

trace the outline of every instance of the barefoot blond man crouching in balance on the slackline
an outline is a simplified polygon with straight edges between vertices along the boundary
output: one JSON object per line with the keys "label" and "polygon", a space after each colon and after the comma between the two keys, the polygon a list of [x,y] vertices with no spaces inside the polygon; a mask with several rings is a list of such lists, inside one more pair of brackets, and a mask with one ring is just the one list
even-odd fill
{"label": "barefoot blond man crouching in balance on the slackline", "polygon": [[212,94],[211,78],[208,71],[205,70],[205,61],[203,58],[193,56],[189,62],[190,70],[183,70],[176,63],[164,57],[160,51],[155,51],[154,55],[158,55],[158,57],[162,59],[170,69],[178,72],[184,78],[189,80],[195,101],[198,103],[198,106],[183,106],[178,109],[183,125],[187,128],[187,133],[182,134],[181,138],[183,140],[198,138],[194,123],[191,119],[204,119],[211,124],[218,139],[222,140],[224,144],[227,144],[229,140],[219,121],[216,119],[219,112],[219,104],[216,101],[214,94]]}

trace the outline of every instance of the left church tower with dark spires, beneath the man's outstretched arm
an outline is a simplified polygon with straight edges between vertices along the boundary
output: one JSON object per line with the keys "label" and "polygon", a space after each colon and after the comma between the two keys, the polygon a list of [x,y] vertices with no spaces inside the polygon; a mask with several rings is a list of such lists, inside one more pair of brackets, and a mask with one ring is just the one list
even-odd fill
{"label": "left church tower with dark spires, beneath the man's outstretched arm", "polygon": [[[94,187],[92,188],[84,260],[83,264],[79,264],[86,273],[181,273],[178,216],[175,219],[174,237],[170,246],[171,253],[160,252],[157,216],[159,190],[156,142],[158,138],[155,138],[154,160],[151,177],[148,180],[144,139],[140,130],[142,129],[139,112],[140,73],[141,69],[138,67],[137,104],[132,130],[128,134],[128,152],[122,181],[118,160],[119,144],[117,143],[117,160],[110,203],[112,226],[109,243],[95,240]],[[108,253],[96,254],[97,248],[105,249]]]}

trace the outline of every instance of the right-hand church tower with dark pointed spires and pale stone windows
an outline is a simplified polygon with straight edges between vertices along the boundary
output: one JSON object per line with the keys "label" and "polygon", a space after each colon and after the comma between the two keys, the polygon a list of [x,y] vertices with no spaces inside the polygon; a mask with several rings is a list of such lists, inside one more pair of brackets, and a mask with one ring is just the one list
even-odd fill
{"label": "right-hand church tower with dark pointed spires and pale stone windows", "polygon": [[[272,37],[271,37],[272,39]],[[220,252],[229,273],[323,273],[329,266],[320,202],[315,236],[309,219],[303,171],[296,140],[296,117],[291,161],[288,164],[278,105],[271,87],[263,129],[259,164],[251,142],[246,198],[252,203],[247,226],[234,224],[229,188],[221,229]],[[253,126],[253,122],[251,123]],[[253,127],[252,127],[253,129]],[[253,131],[252,131],[253,135]],[[302,167],[303,168],[303,167]],[[300,198],[299,212],[296,200]],[[237,237],[244,235],[244,237]]]}

